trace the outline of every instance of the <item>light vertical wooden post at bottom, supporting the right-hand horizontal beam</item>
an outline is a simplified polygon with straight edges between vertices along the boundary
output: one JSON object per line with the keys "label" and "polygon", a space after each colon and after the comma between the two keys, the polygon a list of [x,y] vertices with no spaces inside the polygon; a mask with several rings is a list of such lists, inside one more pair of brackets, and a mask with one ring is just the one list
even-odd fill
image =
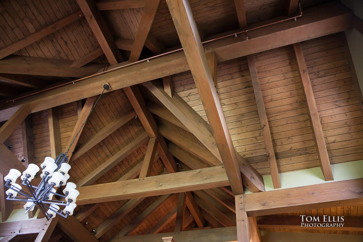
{"label": "light vertical wooden post at bottom, supporting the right-hand horizontal beam", "polygon": [[249,242],[249,226],[248,218],[245,211],[246,203],[244,202],[243,195],[234,196],[236,200],[236,220],[237,220],[237,241]]}

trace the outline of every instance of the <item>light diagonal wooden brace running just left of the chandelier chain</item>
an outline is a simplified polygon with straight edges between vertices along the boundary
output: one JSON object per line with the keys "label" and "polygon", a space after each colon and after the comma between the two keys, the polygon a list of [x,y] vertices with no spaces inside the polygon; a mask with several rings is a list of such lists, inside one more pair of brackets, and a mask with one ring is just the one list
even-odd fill
{"label": "light diagonal wooden brace running just left of the chandelier chain", "polygon": [[[71,162],[72,161],[72,155],[74,153],[74,150],[77,147],[77,143],[79,140],[79,136],[81,136],[82,134],[82,130],[84,128],[83,123],[85,122],[89,112],[91,111],[94,102],[96,101],[96,99],[98,98],[98,96],[93,96],[90,98],[87,98],[85,105],[82,108],[82,112],[81,112],[81,116],[79,116],[76,126],[74,126],[72,135],[69,137],[68,143],[67,143],[67,148],[69,147],[69,152],[68,152],[68,159]],[[81,130],[80,130],[81,129]],[[79,131],[79,134],[78,134]],[[77,135],[78,134],[78,135]],[[73,139],[76,138],[73,142]],[[72,144],[73,142],[73,144]],[[69,162],[69,163],[70,163]]]}

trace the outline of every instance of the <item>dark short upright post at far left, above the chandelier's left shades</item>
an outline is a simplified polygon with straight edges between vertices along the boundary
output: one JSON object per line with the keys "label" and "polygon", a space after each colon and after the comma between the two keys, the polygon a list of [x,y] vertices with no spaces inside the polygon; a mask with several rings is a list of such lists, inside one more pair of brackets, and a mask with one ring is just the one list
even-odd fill
{"label": "dark short upright post at far left, above the chandelier's left shades", "polygon": [[21,123],[21,137],[23,138],[24,165],[28,166],[30,163],[35,163],[32,118],[29,115]]}

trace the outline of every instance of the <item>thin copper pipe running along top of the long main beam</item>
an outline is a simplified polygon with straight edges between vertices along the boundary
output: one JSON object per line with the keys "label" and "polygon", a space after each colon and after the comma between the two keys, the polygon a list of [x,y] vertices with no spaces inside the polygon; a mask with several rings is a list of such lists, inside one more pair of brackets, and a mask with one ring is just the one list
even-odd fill
{"label": "thin copper pipe running along top of the long main beam", "polygon": [[[269,23],[269,24],[265,24],[265,25],[257,26],[257,27],[250,28],[250,29],[245,29],[245,30],[242,30],[242,31],[240,31],[240,32],[236,32],[236,33],[233,33],[233,34],[228,34],[228,35],[225,35],[225,36],[221,36],[221,37],[218,37],[218,38],[214,38],[214,39],[212,39],[212,40],[207,40],[207,41],[202,42],[202,44],[207,44],[207,43],[209,43],[209,42],[213,42],[213,41],[216,41],[216,40],[221,40],[221,39],[228,38],[228,37],[231,37],[231,36],[235,36],[235,37],[237,37],[237,35],[238,35],[238,34],[241,34],[241,33],[245,33],[245,34],[246,34],[246,39],[248,40],[248,36],[247,36],[247,32],[248,32],[248,31],[256,30],[256,29],[260,29],[260,28],[264,28],[264,27],[266,27],[266,26],[270,26],[270,25],[273,25],[273,24],[278,24],[278,23],[285,22],[285,21],[292,20],[292,19],[294,19],[294,20],[296,21],[296,19],[297,19],[298,17],[301,17],[301,16],[302,16],[302,10],[301,10],[301,4],[300,4],[300,1],[299,1],[299,11],[300,11],[300,15],[298,15],[298,16],[289,17],[289,18],[284,19],[284,20],[280,20],[280,21],[272,22],[272,23]],[[109,70],[105,70],[105,69],[106,69],[106,67],[107,67],[107,66],[106,66],[106,67],[105,67],[105,69],[103,69],[103,71],[102,71],[102,72],[95,73],[95,74],[89,75],[89,76],[87,76],[87,77],[82,77],[82,78],[79,78],[79,79],[77,79],[77,80],[70,81],[70,82],[66,82],[66,83],[63,83],[63,84],[61,84],[61,85],[57,85],[57,86],[54,86],[54,87],[49,87],[49,88],[46,88],[46,89],[42,89],[42,90],[40,90],[40,91],[36,91],[36,92],[34,92],[34,93],[30,93],[30,94],[27,94],[27,95],[24,95],[24,96],[20,96],[20,97],[18,97],[18,98],[15,98],[15,99],[12,99],[12,100],[8,100],[8,101],[6,101],[6,103],[8,103],[8,102],[15,102],[16,100],[19,100],[19,99],[21,99],[21,98],[25,98],[25,97],[29,97],[29,96],[32,96],[32,95],[34,95],[34,94],[43,93],[43,92],[48,91],[48,90],[53,90],[53,89],[56,89],[56,88],[58,88],[58,87],[62,87],[62,86],[69,85],[69,84],[71,84],[71,83],[73,83],[73,84],[74,84],[74,83],[76,83],[76,82],[80,82],[80,81],[83,81],[83,80],[88,79],[88,78],[97,77],[97,76],[99,76],[99,75],[103,75],[103,74],[106,74],[106,73],[109,73],[109,72],[112,72],[112,71],[115,71],[115,70],[120,70],[120,69],[123,69],[123,68],[125,68],[125,67],[127,67],[127,66],[133,66],[133,65],[136,65],[136,64],[138,64],[138,63],[145,62],[145,61],[149,62],[150,60],[153,60],[153,59],[155,59],[155,58],[162,57],[162,56],[166,56],[166,55],[168,55],[168,54],[172,54],[172,53],[176,53],[176,52],[179,52],[179,51],[181,51],[181,50],[183,50],[183,48],[180,48],[180,49],[177,49],[177,50],[172,50],[172,51],[170,51],[170,52],[166,52],[166,53],[163,53],[163,54],[159,54],[159,55],[156,55],[156,56],[152,56],[152,57],[150,57],[150,58],[146,58],[146,59],[143,59],[143,60],[140,60],[140,61],[132,62],[132,63],[126,64],[126,65],[123,65],[123,66],[119,66],[119,67],[115,67],[115,68],[112,68],[112,69],[109,69]]]}

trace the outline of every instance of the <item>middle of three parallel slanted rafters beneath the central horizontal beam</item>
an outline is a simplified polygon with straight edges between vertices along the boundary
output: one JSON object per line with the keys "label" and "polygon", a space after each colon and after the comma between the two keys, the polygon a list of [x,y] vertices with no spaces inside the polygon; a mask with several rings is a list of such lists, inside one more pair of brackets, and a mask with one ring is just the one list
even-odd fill
{"label": "middle of three parallel slanted rafters beneath the central horizontal beam", "polygon": [[141,223],[143,223],[152,213],[158,210],[164,202],[169,200],[173,194],[165,194],[156,199],[150,206],[148,206],[142,213],[134,218],[125,228],[123,228],[116,236],[130,235]]}

